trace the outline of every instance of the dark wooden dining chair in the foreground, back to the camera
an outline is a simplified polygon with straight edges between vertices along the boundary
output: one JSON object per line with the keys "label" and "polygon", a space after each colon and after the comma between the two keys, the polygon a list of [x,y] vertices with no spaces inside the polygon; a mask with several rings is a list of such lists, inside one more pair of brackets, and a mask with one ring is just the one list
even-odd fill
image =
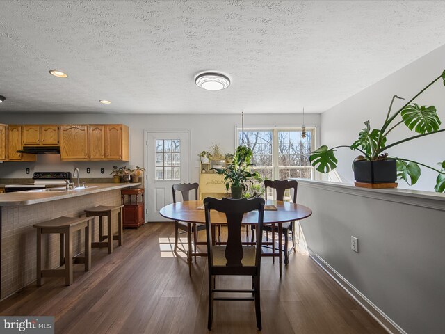
{"label": "dark wooden dining chair in the foreground, back to the camera", "polygon": [[[264,221],[263,198],[232,198],[207,197],[204,199],[206,217],[207,254],[209,261],[209,318],[207,327],[211,330],[213,320],[213,301],[254,301],[257,316],[257,327],[261,330],[261,308],[259,298],[259,281],[261,272],[261,234]],[[212,245],[211,243],[211,210],[224,212],[227,219],[227,244]],[[241,221],[246,212],[258,210],[257,242],[255,246],[243,246],[241,242]],[[215,276],[236,275],[252,276],[252,289],[216,289]],[[214,296],[219,293],[249,293],[253,296],[235,298]]]}

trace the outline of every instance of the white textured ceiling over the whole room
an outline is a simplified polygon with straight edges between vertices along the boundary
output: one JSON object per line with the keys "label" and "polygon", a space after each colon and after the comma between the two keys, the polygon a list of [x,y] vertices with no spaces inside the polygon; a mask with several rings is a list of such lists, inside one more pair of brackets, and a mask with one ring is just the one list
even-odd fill
{"label": "white textured ceiling over the whole room", "polygon": [[[443,45],[444,17],[444,1],[3,0],[0,111],[319,113]],[[198,88],[204,70],[232,85]]]}

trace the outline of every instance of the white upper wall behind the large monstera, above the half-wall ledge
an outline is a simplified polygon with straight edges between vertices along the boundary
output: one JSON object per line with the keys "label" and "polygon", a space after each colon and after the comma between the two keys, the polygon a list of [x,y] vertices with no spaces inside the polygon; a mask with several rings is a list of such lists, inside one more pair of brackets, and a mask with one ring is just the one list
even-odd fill
{"label": "white upper wall behind the large monstera, above the half-wall ledge", "polygon": [[[401,52],[403,50],[388,51]],[[366,66],[366,64],[363,65]],[[352,144],[358,138],[357,135],[364,127],[363,122],[366,120],[371,120],[371,127],[380,128],[385,120],[393,95],[396,94],[410,100],[433,79],[439,77],[444,69],[445,45],[325,111],[321,114],[322,145],[331,148],[337,145]],[[393,110],[396,111],[403,106],[404,101],[407,102],[406,100],[396,100]],[[442,119],[442,122],[445,122],[445,87],[442,80],[437,81],[414,102],[419,105],[434,105],[439,118]],[[398,120],[401,120],[401,118],[398,118]],[[442,128],[444,128],[444,125],[442,125]],[[389,134],[387,144],[415,134],[402,124],[399,129]],[[445,160],[444,141],[444,133],[435,134],[421,138],[421,140],[398,145],[389,149],[388,153],[437,167],[437,162]],[[344,182],[354,182],[351,164],[359,154],[359,152],[352,152],[348,148],[339,148],[337,151],[337,158],[339,159],[337,172]],[[422,175],[417,184],[410,187],[403,180],[399,181],[398,184],[402,188],[434,191],[436,177],[437,173],[422,168]]]}

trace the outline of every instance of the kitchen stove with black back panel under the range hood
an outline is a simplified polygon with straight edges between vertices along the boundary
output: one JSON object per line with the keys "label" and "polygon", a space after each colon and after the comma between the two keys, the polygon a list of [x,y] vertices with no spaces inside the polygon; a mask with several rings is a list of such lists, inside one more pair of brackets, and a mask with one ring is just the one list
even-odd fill
{"label": "kitchen stove with black back panel under the range hood", "polygon": [[27,191],[44,189],[52,186],[65,185],[65,180],[71,182],[70,172],[35,172],[33,174],[34,183],[29,184],[5,184],[5,192]]}

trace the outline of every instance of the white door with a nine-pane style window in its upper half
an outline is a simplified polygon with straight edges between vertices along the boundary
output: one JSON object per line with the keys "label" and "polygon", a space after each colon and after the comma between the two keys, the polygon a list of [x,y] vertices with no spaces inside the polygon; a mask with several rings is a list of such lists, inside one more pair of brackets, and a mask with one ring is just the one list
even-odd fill
{"label": "white door with a nine-pane style window in its upper half", "polygon": [[188,132],[145,132],[146,221],[166,221],[159,210],[173,202],[172,185],[188,182]]}

